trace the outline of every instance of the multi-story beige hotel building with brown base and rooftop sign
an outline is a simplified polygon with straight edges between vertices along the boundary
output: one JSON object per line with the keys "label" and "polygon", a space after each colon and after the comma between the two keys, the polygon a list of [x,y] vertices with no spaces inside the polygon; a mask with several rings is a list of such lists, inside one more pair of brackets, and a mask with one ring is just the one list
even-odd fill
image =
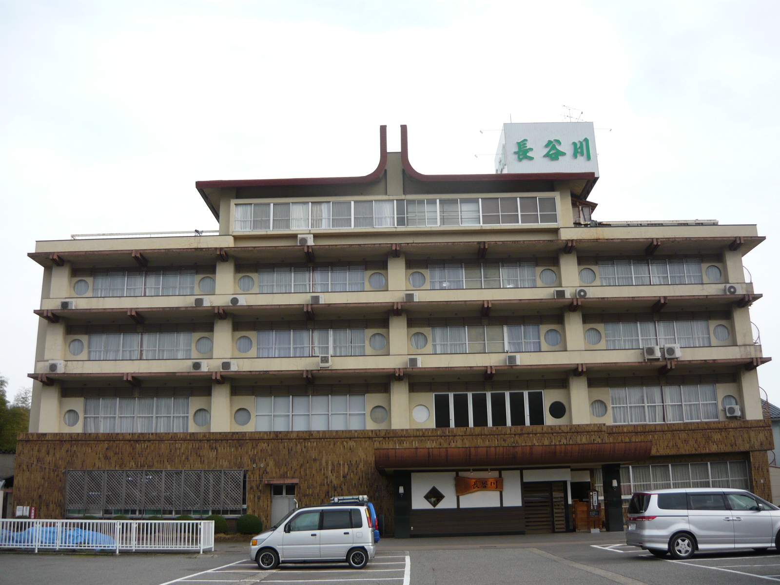
{"label": "multi-story beige hotel building with brown base and rooftop sign", "polygon": [[37,243],[17,505],[367,494],[406,537],[570,530],[590,490],[610,530],[634,490],[770,497],[755,225],[591,219],[590,124],[506,125],[486,175],[380,136],[367,176],[196,183],[218,232]]}

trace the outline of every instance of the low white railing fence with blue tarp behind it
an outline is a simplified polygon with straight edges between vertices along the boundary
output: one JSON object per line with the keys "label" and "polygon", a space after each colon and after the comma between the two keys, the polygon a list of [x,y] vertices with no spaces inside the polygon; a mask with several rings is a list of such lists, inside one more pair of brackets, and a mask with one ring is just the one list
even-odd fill
{"label": "low white railing fence with blue tarp behind it", "polygon": [[214,550],[214,520],[0,519],[0,548],[202,553]]}

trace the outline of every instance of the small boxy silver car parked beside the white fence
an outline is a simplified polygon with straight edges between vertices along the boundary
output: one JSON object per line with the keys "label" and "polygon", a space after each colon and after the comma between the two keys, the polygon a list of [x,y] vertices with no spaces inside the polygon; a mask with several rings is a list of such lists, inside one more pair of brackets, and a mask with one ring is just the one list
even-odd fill
{"label": "small boxy silver car parked beside the white fence", "polygon": [[280,562],[348,562],[363,569],[374,558],[374,527],[365,504],[294,509],[252,539],[250,558],[263,570]]}

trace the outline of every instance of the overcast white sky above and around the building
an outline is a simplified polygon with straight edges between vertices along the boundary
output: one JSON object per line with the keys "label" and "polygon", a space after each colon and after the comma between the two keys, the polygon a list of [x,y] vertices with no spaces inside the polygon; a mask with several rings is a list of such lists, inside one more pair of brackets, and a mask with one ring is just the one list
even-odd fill
{"label": "overcast white sky above and around the building", "polygon": [[[780,346],[778,2],[0,0],[0,374],[30,385],[37,239],[214,229],[200,179],[492,172],[503,122],[595,122],[595,218],[757,223]],[[780,404],[780,363],[759,370]]]}

